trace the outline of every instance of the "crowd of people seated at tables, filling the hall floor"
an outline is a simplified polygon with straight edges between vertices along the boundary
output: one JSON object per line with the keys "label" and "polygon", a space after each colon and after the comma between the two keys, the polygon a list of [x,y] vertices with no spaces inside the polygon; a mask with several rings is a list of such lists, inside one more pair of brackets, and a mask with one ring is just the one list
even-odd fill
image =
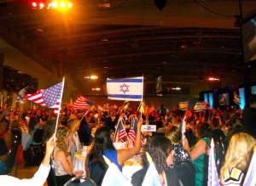
{"label": "crowd of people seated at tables, filling the hall floor", "polygon": [[[7,110],[0,113],[0,174],[3,174],[1,171],[14,138],[19,142],[21,140],[20,128],[27,127],[30,134],[24,147],[25,155],[32,144],[37,145],[33,137],[38,128],[43,128],[44,138],[39,144],[44,144],[46,153],[42,164],[49,165],[51,154],[56,182],[61,186],[70,178],[85,173],[73,171],[73,155],[84,145],[91,147],[84,165],[86,175],[97,185],[102,184],[108,169],[103,155],[121,171],[124,162],[140,152],[143,169],[132,175],[131,184],[141,185],[149,166],[145,154],[148,152],[162,185],[204,186],[207,185],[212,138],[216,147],[219,182],[222,185],[241,185],[256,144],[255,96],[250,99],[250,107],[245,110],[239,110],[236,106],[216,110],[179,110],[178,106],[169,109],[161,104],[159,108],[141,115],[137,108],[129,107],[111,110],[73,110],[69,107],[61,110],[57,125],[56,117],[49,109],[15,110],[12,116],[6,114]],[[131,144],[129,138],[125,138],[126,148],[115,149],[113,135],[118,122],[124,121],[128,133],[131,117],[138,118],[135,143]],[[180,128],[183,122],[186,124],[185,135]],[[145,124],[156,125],[157,131],[141,132]],[[54,144],[55,148],[50,144]],[[3,176],[0,176],[0,182],[2,179]],[[32,178],[35,179],[36,176]],[[3,180],[8,179],[4,177]]]}

